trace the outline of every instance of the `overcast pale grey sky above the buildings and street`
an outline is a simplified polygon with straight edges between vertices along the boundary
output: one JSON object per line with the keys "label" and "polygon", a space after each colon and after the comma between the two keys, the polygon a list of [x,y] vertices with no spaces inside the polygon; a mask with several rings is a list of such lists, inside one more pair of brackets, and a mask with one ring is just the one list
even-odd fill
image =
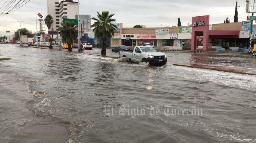
{"label": "overcast pale grey sky above the buildings and street", "polygon": [[[11,0],[7,0],[11,1]],[[78,0],[73,0],[78,2]],[[0,7],[6,0],[0,0]],[[123,23],[124,28],[131,28],[136,24],[146,27],[172,27],[177,26],[178,17],[182,26],[192,23],[192,17],[210,15],[210,24],[224,23],[229,17],[234,22],[236,0],[79,0],[80,14],[90,14],[97,17],[96,11],[109,11],[115,14],[116,22]],[[245,0],[238,0],[238,21],[245,21],[248,13],[245,12]],[[4,16],[0,16],[0,34],[6,30],[17,31],[27,28],[36,31],[37,15],[41,13],[43,18],[47,15],[47,0],[30,0],[26,5]],[[249,14],[251,15],[251,14]],[[36,17],[37,16],[37,17]],[[93,24],[94,21],[91,21]],[[43,27],[47,26],[43,22]],[[39,31],[39,23],[37,23]],[[8,35],[7,35],[8,36]]]}

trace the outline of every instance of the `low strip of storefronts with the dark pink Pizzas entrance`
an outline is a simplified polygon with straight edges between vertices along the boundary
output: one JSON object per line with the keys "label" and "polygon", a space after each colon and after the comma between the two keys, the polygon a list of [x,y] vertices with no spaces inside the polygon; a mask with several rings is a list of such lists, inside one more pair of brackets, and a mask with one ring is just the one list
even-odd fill
{"label": "low strip of storefronts with the dark pink Pizzas entrance", "polygon": [[193,17],[192,24],[181,27],[123,28],[122,23],[116,25],[118,29],[110,41],[110,47],[117,45],[134,47],[151,43],[154,47],[169,49],[191,47],[192,50],[208,50],[237,48],[240,43],[244,44],[245,48],[249,45],[248,21],[209,24],[209,15]]}

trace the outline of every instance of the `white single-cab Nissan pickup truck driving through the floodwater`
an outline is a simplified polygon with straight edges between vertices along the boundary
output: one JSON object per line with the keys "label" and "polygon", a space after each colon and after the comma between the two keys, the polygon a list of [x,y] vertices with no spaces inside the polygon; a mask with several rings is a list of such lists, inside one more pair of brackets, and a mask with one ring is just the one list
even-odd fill
{"label": "white single-cab Nissan pickup truck driving through the floodwater", "polygon": [[135,46],[133,50],[119,51],[119,58],[126,57],[127,61],[136,63],[165,64],[166,55],[150,46]]}

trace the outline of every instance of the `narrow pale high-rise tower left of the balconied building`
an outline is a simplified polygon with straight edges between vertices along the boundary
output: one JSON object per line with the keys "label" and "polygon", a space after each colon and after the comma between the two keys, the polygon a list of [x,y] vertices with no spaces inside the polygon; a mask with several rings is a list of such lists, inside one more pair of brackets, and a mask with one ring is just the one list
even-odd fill
{"label": "narrow pale high-rise tower left of the balconied building", "polygon": [[53,30],[60,27],[59,0],[47,0],[47,14],[53,17]]}

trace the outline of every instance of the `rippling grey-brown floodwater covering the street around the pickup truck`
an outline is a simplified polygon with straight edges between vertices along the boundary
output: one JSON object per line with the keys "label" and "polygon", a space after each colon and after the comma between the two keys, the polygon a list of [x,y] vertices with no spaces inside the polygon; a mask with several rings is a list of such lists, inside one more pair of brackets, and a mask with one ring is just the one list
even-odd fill
{"label": "rippling grey-brown floodwater covering the street around the pickup truck", "polygon": [[254,73],[250,54],[166,52],[167,64],[154,67],[17,45],[0,50],[12,58],[0,61],[0,143],[256,142],[256,76],[171,64]]}

